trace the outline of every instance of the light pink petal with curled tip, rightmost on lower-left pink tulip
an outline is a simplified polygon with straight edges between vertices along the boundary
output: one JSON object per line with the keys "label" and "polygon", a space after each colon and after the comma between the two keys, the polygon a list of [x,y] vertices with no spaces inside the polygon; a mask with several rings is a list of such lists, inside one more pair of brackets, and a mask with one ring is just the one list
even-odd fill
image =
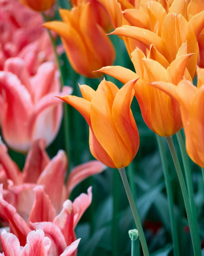
{"label": "light pink petal with curled tip, rightmost on lower-left pink tulip", "polygon": [[81,219],[83,213],[90,206],[92,201],[92,187],[89,187],[87,190],[88,194],[82,193],[79,195],[72,203],[73,213],[74,213],[74,227]]}

